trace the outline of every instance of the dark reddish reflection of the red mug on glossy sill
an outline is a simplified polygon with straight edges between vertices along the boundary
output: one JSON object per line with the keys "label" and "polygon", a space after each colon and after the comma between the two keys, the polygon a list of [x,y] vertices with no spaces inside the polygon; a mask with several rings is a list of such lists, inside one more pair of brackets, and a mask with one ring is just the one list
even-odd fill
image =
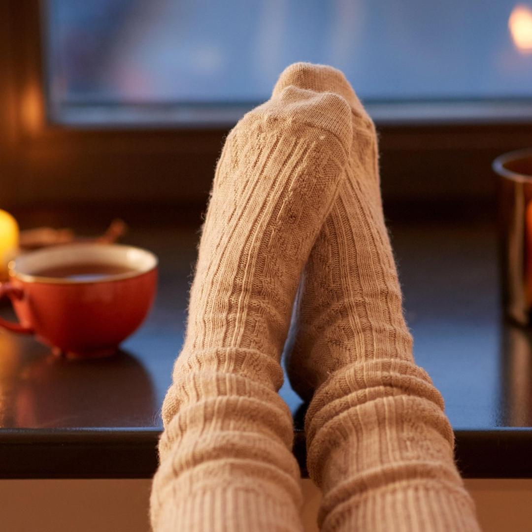
{"label": "dark reddish reflection of the red mug on glossy sill", "polygon": [[152,388],[142,363],[129,353],[75,361],[50,354],[23,368],[16,426],[142,426],[157,410]]}

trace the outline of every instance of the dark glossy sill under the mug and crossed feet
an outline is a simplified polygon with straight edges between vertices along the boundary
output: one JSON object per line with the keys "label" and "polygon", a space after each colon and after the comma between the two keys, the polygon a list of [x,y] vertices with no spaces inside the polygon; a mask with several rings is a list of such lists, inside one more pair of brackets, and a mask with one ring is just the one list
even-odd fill
{"label": "dark glossy sill under the mug and crossed feet", "polygon": [[[495,217],[486,209],[480,217],[451,204],[432,217],[387,212],[415,359],[445,398],[460,470],[532,478],[532,336],[501,319]],[[121,214],[130,225],[124,242],[157,253],[161,275],[151,315],[113,359],[53,361],[33,339],[0,332],[0,477],[151,477],[160,406],[184,333],[199,213],[168,206],[16,214],[22,227],[46,223],[84,234]],[[10,317],[9,305],[0,313]],[[287,384],[280,393],[294,413],[303,463],[304,409]]]}

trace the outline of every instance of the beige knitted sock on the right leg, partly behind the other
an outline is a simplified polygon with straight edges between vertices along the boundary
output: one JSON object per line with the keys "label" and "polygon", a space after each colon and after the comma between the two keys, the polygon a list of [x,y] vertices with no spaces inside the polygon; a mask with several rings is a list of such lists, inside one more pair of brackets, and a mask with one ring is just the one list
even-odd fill
{"label": "beige knitted sock on the right leg, partly behind the other", "polygon": [[375,128],[341,72],[296,64],[274,94],[290,84],[334,86],[353,119],[347,179],[303,274],[288,365],[297,392],[313,394],[305,430],[309,472],[323,491],[321,530],[478,530],[442,396],[413,360]]}

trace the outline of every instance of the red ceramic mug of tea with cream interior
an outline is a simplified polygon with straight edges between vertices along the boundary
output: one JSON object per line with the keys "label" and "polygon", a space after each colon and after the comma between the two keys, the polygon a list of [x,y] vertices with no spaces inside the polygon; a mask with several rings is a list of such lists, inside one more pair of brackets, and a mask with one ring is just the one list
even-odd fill
{"label": "red ceramic mug of tea with cream interior", "polygon": [[20,323],[0,326],[68,356],[105,356],[144,321],[155,296],[157,257],[118,244],[72,244],[21,255],[0,296]]}

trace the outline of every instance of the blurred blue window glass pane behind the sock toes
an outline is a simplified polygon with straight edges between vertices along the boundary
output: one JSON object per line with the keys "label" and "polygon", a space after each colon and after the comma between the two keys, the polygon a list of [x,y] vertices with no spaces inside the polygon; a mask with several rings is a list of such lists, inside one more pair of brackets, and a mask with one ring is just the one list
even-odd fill
{"label": "blurred blue window glass pane behind the sock toes", "polygon": [[134,123],[146,112],[157,122],[179,110],[201,121],[201,113],[263,101],[294,61],[342,69],[364,101],[531,98],[532,45],[519,49],[512,40],[515,7],[510,0],[48,0],[48,111],[64,123]]}

